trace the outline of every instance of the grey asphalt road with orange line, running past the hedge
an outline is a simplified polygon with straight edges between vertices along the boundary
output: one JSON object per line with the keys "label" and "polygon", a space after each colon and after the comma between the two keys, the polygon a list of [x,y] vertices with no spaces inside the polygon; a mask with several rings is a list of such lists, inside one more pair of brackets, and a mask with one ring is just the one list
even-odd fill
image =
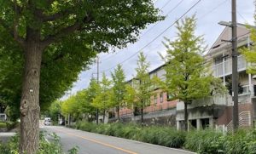
{"label": "grey asphalt road with orange line, running past the hedge", "polygon": [[55,132],[61,137],[63,150],[79,146],[79,154],[191,154],[193,152],[151,145],[113,136],[93,134],[72,128],[44,126],[48,133]]}

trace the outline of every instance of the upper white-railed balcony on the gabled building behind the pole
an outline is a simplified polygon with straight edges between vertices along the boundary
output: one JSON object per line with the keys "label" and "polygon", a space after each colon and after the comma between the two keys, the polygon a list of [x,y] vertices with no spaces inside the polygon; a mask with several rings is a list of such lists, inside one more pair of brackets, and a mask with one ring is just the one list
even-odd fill
{"label": "upper white-railed balcony on the gabled building behind the pole", "polygon": [[[245,71],[247,68],[247,62],[244,55],[237,57],[237,71]],[[212,66],[214,77],[224,77],[232,74],[232,60],[228,59],[224,62]]]}

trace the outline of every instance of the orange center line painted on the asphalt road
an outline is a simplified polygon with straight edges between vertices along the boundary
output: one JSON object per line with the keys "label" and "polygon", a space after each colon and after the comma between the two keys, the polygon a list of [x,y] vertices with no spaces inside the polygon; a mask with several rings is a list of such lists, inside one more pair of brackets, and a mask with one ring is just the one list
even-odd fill
{"label": "orange center line painted on the asphalt road", "polygon": [[[55,129],[55,128],[53,128]],[[71,135],[71,136],[75,136],[75,137],[78,137],[78,138],[81,138],[81,139],[84,139],[84,140],[90,140],[91,142],[95,142],[97,144],[100,144],[100,145],[105,145],[105,146],[108,146],[108,147],[112,147],[113,149],[117,149],[119,151],[125,151],[126,153],[130,153],[130,154],[137,154],[136,152],[134,151],[128,151],[128,150],[125,150],[123,148],[120,148],[118,146],[115,146],[115,145],[109,145],[108,143],[104,143],[104,142],[101,142],[101,141],[98,141],[98,140],[93,140],[93,139],[90,139],[90,138],[86,138],[84,136],[79,136],[77,134],[72,134],[72,133],[67,133],[66,131],[63,131],[63,130],[58,130],[58,129],[55,129],[56,131],[59,131],[61,133],[64,133],[64,134],[68,134],[68,135]]]}

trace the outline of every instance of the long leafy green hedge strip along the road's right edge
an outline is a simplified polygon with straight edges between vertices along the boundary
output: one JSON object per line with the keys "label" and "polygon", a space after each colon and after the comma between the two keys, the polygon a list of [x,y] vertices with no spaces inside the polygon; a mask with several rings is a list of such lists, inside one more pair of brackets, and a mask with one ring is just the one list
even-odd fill
{"label": "long leafy green hedge strip along the road's right edge", "polygon": [[204,154],[256,154],[256,129],[240,129],[235,134],[224,135],[212,129],[187,133],[176,128],[141,127],[135,123],[96,125],[96,123],[78,122],[73,128]]}

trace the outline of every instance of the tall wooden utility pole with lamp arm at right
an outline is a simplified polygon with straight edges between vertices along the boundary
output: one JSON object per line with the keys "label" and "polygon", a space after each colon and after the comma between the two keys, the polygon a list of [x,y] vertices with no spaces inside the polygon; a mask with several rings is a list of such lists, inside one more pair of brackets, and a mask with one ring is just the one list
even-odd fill
{"label": "tall wooden utility pole with lamp arm at right", "polygon": [[238,73],[237,73],[237,30],[236,30],[236,0],[232,0],[232,22],[220,21],[222,26],[232,28],[232,39],[222,40],[232,43],[232,100],[233,100],[233,128],[236,130],[239,125],[238,121]]}

